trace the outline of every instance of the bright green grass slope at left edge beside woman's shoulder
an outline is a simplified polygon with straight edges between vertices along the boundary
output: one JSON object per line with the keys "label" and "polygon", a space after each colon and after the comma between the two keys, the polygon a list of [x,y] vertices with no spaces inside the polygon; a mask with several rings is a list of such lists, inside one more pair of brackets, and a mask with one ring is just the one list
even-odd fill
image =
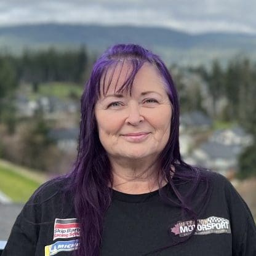
{"label": "bright green grass slope at left edge beside woman's shoulder", "polygon": [[[29,177],[26,171],[18,171],[12,164],[0,162],[0,190],[14,202],[26,202],[31,194],[42,183],[42,179]],[[28,171],[29,172],[29,171]]]}

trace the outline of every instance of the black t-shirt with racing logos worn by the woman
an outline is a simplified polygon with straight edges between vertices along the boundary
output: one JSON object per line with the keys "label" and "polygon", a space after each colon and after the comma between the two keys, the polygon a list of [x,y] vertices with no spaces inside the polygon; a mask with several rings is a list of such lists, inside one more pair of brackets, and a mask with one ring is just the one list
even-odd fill
{"label": "black t-shirt with racing logos worn by the woman", "polygon": [[[196,233],[188,241],[149,255],[256,255],[256,228],[246,203],[222,175],[210,173],[212,193],[198,217]],[[72,197],[63,199],[62,182],[45,185],[28,201],[12,228],[2,256],[72,255],[79,246],[79,223]],[[189,184],[180,185],[180,193]],[[205,184],[193,195],[193,209]],[[164,191],[175,199],[169,185]],[[194,221],[179,207],[161,201],[159,191],[125,194],[113,190],[103,223],[102,256],[141,256],[186,238]]]}

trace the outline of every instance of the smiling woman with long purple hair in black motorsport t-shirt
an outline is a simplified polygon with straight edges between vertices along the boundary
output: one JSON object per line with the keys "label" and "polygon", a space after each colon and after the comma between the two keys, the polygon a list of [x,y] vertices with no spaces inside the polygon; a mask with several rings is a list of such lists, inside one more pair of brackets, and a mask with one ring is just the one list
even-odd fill
{"label": "smiling woman with long purple hair in black motorsport t-shirt", "polygon": [[221,175],[183,162],[174,82],[157,56],[116,45],[81,98],[78,158],[32,196],[9,255],[256,255],[255,223]]}

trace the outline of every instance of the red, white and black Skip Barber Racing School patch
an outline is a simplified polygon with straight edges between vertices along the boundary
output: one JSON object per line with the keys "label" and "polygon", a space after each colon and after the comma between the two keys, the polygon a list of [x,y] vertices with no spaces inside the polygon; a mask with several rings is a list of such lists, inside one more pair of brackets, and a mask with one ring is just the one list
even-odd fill
{"label": "red, white and black Skip Barber Racing School patch", "polygon": [[80,236],[77,218],[55,218],[54,240],[58,238],[75,238],[76,236]]}

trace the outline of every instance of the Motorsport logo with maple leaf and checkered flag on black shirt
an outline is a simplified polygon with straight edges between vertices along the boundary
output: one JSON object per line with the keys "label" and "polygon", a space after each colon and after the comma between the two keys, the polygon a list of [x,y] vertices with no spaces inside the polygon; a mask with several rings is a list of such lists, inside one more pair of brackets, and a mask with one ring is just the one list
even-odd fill
{"label": "Motorsport logo with maple leaf and checkered flag on black shirt", "polygon": [[[186,222],[177,222],[173,228],[172,233],[179,235],[180,237],[188,236],[194,230],[194,220],[188,220]],[[220,234],[231,233],[230,221],[226,218],[220,218],[211,216],[209,218],[202,218],[198,220],[198,226],[194,234]]]}

